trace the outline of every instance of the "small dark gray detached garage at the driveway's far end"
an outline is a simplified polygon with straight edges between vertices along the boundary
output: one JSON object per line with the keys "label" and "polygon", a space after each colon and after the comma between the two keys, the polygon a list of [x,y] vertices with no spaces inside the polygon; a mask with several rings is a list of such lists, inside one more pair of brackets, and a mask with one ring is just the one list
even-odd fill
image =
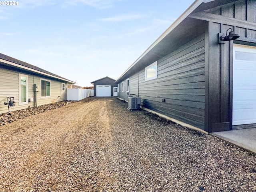
{"label": "small dark gray detached garage at the driveway's far end", "polygon": [[108,76],[91,82],[94,85],[94,97],[117,97],[118,85]]}

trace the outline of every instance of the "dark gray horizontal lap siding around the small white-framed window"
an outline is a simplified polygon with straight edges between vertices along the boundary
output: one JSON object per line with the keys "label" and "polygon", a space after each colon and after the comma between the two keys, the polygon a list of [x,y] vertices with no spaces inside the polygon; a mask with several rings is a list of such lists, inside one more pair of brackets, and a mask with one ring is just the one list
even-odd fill
{"label": "dark gray horizontal lap siding around the small white-framed window", "polygon": [[[139,73],[144,107],[204,129],[204,34],[158,60],[157,79]],[[162,102],[165,99],[165,102]]]}

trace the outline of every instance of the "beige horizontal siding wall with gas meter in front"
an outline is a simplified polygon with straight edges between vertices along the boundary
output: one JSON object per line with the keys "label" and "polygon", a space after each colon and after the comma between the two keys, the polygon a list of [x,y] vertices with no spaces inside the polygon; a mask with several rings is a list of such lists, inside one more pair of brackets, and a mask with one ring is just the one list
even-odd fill
{"label": "beige horizontal siding wall with gas meter in front", "polygon": [[[16,101],[16,105],[14,107],[10,107],[10,112],[15,110],[26,109],[29,106],[34,107],[34,102],[28,102],[28,104],[19,105],[19,74],[28,75],[28,98],[34,98],[34,84],[37,84],[39,86],[37,92],[38,106],[66,100],[67,82],[62,82],[60,80],[55,80],[44,76],[40,77],[37,75],[28,74],[24,71],[19,72],[17,70],[11,70],[6,68],[5,66],[0,67],[0,114],[8,112],[8,106],[4,105],[4,102],[7,101],[8,97],[14,97],[14,100]],[[40,98],[40,78],[51,81],[49,98]],[[62,83],[65,83],[65,91],[62,91]]]}

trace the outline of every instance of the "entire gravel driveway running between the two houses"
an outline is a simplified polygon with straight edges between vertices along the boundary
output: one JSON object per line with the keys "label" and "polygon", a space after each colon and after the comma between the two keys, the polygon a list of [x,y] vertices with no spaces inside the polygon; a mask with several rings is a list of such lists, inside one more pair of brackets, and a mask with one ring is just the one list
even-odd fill
{"label": "entire gravel driveway running between the two houses", "polygon": [[256,156],[116,98],[0,126],[0,191],[256,191]]}

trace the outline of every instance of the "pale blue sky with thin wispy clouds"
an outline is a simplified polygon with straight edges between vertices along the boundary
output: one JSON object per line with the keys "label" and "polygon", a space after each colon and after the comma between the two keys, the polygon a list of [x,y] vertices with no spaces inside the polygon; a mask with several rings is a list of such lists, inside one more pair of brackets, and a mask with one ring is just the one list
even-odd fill
{"label": "pale blue sky with thin wispy clouds", "polygon": [[17,2],[0,5],[0,52],[91,86],[117,79],[194,0]]}

